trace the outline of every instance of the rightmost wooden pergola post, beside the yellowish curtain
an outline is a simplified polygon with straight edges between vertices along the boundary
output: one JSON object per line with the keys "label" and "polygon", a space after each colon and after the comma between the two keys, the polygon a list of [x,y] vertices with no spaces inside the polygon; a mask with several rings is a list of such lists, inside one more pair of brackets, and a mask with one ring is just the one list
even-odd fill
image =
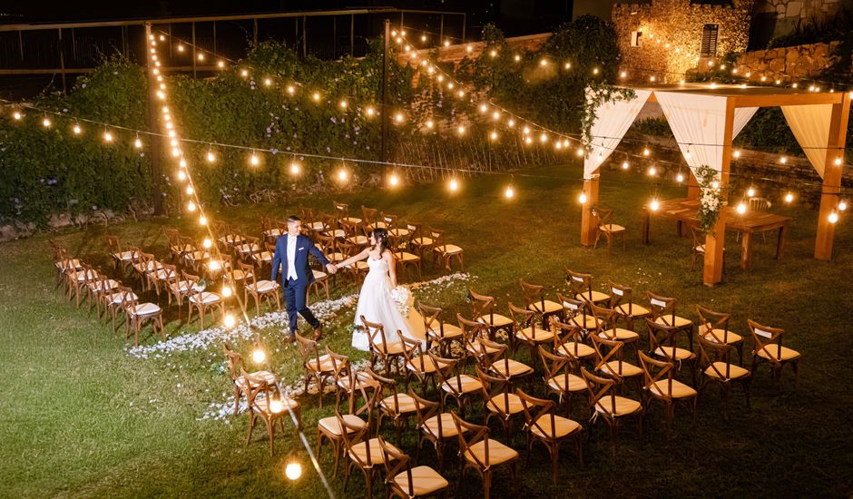
{"label": "rightmost wooden pergola post, beside the yellowish curtain", "polygon": [[820,210],[818,214],[818,235],[815,240],[815,258],[832,258],[832,241],[835,236],[835,224],[829,222],[829,214],[838,210],[838,193],[841,191],[841,166],[835,164],[837,158],[844,162],[844,148],[847,141],[847,125],[850,117],[850,95],[843,93],[840,103],[832,104],[832,116],[829,121],[827,141],[827,159],[823,168],[823,185],[820,190]]}

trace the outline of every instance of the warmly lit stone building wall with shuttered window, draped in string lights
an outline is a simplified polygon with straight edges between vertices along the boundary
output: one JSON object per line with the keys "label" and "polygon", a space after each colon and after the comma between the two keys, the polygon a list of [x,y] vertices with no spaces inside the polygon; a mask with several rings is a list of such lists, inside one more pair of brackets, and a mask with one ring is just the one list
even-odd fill
{"label": "warmly lit stone building wall with shuttered window, draped in string lights", "polygon": [[[744,52],[750,35],[752,0],[730,5],[691,4],[690,0],[652,0],[650,4],[613,6],[613,24],[623,54],[627,82],[680,81],[700,62],[702,28],[717,24],[720,57]],[[642,32],[640,46],[632,46],[632,33]]]}

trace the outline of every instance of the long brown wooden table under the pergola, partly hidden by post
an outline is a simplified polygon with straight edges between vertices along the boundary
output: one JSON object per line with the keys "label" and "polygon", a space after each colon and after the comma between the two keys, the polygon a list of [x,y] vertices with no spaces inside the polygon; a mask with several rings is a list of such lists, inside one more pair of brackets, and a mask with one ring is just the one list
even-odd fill
{"label": "long brown wooden table under the pergola, partly hidden by post", "polygon": [[[676,220],[678,222],[678,235],[681,237],[684,224],[693,227],[699,226],[699,217],[696,215],[698,210],[699,200],[687,198],[659,201],[658,209],[654,211],[649,208],[648,204],[643,205],[642,242],[644,244],[649,243],[649,225],[652,215],[664,219]],[[782,259],[782,251],[785,248],[785,236],[788,233],[790,224],[789,217],[757,210],[747,210],[746,213],[741,215],[731,206],[723,208],[720,216],[725,217],[726,230],[740,232],[741,234],[741,239],[743,240],[740,252],[741,269],[752,267],[752,240],[755,234],[759,234],[760,232],[779,229],[779,237],[776,241],[776,259]]]}

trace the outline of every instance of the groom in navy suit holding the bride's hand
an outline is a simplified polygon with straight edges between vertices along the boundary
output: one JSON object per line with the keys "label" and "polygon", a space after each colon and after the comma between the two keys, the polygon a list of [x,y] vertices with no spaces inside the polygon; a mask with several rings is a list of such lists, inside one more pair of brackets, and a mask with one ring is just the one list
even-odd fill
{"label": "groom in navy suit holding the bride's hand", "polygon": [[272,257],[272,278],[275,281],[281,269],[281,289],[284,290],[284,302],[288,307],[288,318],[290,321],[289,343],[296,341],[296,314],[299,315],[314,328],[314,340],[323,336],[323,328],[319,320],[314,317],[311,310],[306,306],[308,287],[314,282],[314,272],[308,266],[308,254],[314,255],[320,263],[326,266],[329,273],[334,274],[338,269],[328,262],[323,254],[308,236],[302,233],[302,220],[295,215],[288,217],[288,233],[276,240],[276,251]]}

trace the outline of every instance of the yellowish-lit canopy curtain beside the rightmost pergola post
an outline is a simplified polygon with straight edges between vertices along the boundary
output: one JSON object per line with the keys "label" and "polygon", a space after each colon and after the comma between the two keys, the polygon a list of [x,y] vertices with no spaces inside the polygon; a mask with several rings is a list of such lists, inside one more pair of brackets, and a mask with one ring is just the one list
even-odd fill
{"label": "yellowish-lit canopy curtain beside the rightmost pergola post", "polygon": [[789,105],[781,108],[799,147],[822,179],[823,169],[827,165],[826,146],[829,142],[832,104]]}

